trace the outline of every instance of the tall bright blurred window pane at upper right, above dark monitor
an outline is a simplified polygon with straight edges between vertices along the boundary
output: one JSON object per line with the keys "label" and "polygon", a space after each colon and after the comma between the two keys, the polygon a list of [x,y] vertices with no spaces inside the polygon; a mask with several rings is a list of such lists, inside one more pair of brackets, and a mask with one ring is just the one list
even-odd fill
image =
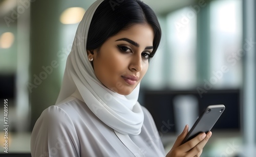
{"label": "tall bright blurred window pane at upper right, above dark monitor", "polygon": [[[209,77],[214,88],[239,88],[242,84],[242,2],[210,3]],[[222,70],[222,69],[226,70]],[[215,82],[214,82],[215,81]]]}

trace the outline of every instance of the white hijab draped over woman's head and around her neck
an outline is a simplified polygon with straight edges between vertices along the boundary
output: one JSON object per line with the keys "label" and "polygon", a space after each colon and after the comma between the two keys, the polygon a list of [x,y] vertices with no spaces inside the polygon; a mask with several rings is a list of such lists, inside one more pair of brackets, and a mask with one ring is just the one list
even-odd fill
{"label": "white hijab draped over woman's head and around her neck", "polygon": [[103,0],[93,3],[78,25],[56,104],[78,90],[84,102],[102,122],[123,135],[138,135],[144,120],[138,102],[140,84],[130,95],[115,93],[97,79],[88,60],[88,31],[93,14],[101,2]]}

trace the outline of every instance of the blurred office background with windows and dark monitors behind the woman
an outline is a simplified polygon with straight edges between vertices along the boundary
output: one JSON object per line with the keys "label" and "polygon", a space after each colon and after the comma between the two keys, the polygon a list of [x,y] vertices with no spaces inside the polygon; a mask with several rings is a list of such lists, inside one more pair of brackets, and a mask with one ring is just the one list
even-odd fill
{"label": "blurred office background with windows and dark monitors behind the woman", "polygon": [[[56,101],[78,22],[93,2],[0,1],[0,142],[8,99],[9,153],[30,152],[33,125]],[[202,156],[254,156],[256,2],[143,2],[157,13],[163,37],[139,101],[166,150],[209,104],[225,104]]]}

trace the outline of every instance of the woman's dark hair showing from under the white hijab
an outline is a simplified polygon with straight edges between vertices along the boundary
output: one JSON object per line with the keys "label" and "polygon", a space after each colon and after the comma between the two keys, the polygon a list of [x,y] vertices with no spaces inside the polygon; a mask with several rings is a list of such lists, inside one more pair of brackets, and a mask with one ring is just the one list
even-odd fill
{"label": "woman's dark hair showing from under the white hijab", "polygon": [[101,45],[135,23],[148,23],[154,30],[153,57],[161,39],[161,28],[154,11],[140,0],[105,0],[96,9],[89,28],[87,49]]}

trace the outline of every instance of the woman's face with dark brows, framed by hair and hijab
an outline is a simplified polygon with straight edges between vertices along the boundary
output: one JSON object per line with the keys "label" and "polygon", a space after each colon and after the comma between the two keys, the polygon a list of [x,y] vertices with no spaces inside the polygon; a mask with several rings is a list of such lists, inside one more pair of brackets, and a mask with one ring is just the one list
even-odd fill
{"label": "woman's face with dark brows, framed by hair and hijab", "polygon": [[114,92],[129,95],[147,71],[153,39],[149,24],[134,24],[106,40],[93,55],[89,53],[98,80]]}

